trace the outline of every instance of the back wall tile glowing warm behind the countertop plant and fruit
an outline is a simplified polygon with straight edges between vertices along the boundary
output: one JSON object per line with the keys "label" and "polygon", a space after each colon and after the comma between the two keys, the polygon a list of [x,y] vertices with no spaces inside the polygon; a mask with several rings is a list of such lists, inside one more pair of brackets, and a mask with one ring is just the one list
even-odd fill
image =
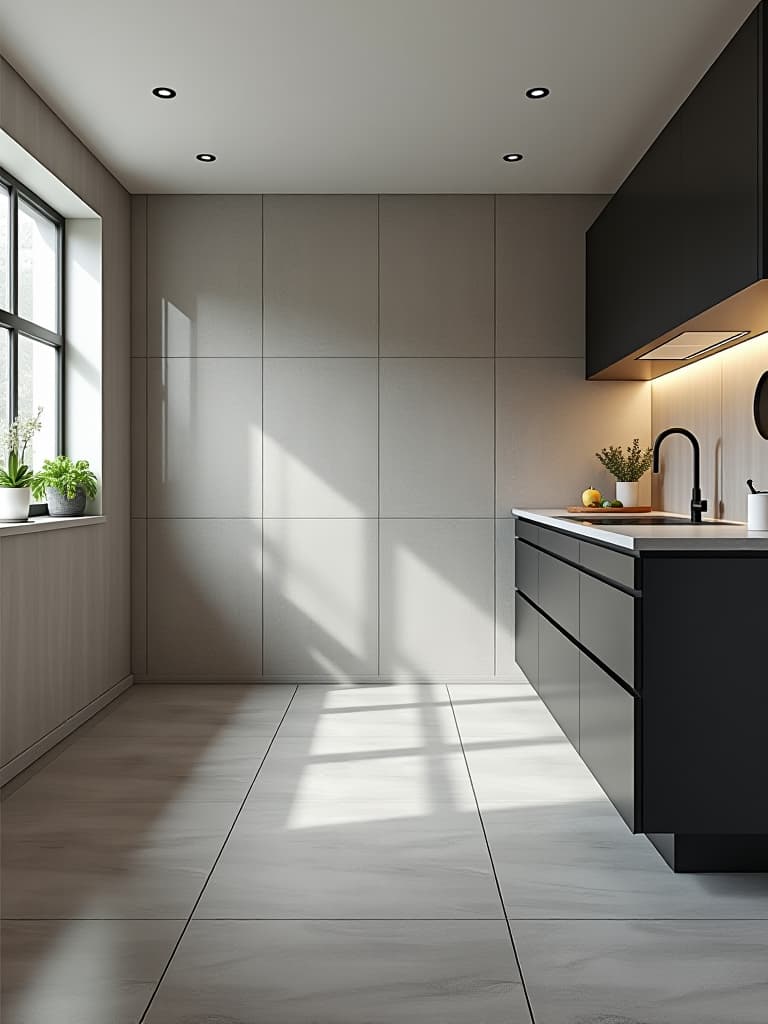
{"label": "back wall tile glowing warm behind the countertop plant and fruit", "polygon": [[[650,440],[650,384],[587,381],[584,361],[497,359],[497,514],[564,508],[593,484],[613,496],[595,452]],[[650,497],[649,474],[641,501]]]}

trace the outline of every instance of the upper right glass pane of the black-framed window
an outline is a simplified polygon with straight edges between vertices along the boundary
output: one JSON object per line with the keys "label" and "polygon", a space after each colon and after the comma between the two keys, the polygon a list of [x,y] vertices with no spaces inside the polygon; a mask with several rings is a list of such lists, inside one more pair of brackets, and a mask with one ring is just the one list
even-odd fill
{"label": "upper right glass pane of the black-framed window", "polygon": [[18,201],[18,315],[56,330],[56,225]]}

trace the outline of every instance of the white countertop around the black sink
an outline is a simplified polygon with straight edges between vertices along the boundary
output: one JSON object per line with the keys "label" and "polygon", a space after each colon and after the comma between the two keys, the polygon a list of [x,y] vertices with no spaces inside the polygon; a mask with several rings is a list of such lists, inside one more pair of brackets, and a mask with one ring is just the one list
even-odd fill
{"label": "white countertop around the black sink", "polygon": [[[521,519],[629,551],[768,551],[768,531],[750,531],[743,522],[727,526],[708,525],[707,520],[700,524],[686,523],[685,526],[613,526],[610,523],[611,514],[618,515],[596,512],[594,518],[590,518],[579,513],[569,515],[565,509],[512,509],[512,515]],[[687,520],[687,516],[674,512],[647,514]],[[557,516],[566,518],[559,519]]]}

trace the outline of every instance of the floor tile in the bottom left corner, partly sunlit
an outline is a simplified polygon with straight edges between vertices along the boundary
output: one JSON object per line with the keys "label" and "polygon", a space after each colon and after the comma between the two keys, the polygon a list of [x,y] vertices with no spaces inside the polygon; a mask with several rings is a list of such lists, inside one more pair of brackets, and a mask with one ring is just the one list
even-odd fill
{"label": "floor tile in the bottom left corner, partly sunlit", "polygon": [[136,1024],[181,921],[24,921],[2,926],[3,1024]]}

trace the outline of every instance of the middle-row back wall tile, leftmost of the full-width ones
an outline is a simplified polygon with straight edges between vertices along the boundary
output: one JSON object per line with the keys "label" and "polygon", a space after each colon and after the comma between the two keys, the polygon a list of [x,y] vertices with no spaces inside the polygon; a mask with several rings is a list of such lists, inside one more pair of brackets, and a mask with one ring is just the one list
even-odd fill
{"label": "middle-row back wall tile, leftmost of the full-width ones", "polygon": [[261,514],[261,360],[148,359],[148,514]]}

